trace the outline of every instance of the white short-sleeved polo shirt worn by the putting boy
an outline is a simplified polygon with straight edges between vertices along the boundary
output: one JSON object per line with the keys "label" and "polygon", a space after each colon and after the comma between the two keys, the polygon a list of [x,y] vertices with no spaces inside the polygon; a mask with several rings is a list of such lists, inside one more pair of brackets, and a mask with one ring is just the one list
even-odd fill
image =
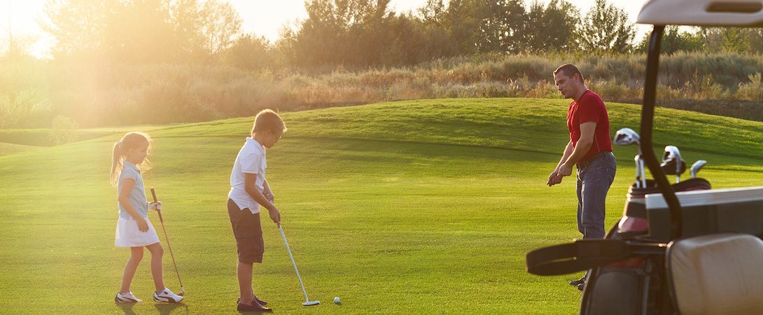
{"label": "white short-sleeved polo shirt worn by the putting boy", "polygon": [[257,179],[254,185],[259,192],[262,192],[267,167],[265,148],[251,137],[246,137],[246,142],[243,143],[236,156],[236,162],[233,163],[233,172],[230,172],[230,192],[228,192],[228,198],[233,200],[239,209],[249,208],[253,214],[259,213],[259,204],[246,193],[243,178],[244,173],[256,174]]}

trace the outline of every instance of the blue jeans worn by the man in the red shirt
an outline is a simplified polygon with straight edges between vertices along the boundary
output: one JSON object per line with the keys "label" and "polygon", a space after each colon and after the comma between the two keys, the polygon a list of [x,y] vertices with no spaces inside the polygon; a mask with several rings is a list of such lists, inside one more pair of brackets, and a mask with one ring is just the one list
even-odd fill
{"label": "blue jeans worn by the man in the red shirt", "polygon": [[597,156],[585,168],[578,166],[578,231],[584,239],[604,238],[607,191],[615,179],[617,162],[612,153]]}

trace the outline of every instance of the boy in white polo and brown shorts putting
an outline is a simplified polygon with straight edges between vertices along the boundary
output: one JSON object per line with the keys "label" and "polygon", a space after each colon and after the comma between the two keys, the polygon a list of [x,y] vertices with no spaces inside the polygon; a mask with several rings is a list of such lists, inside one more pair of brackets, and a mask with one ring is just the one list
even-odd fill
{"label": "boy in white polo and brown shorts putting", "polygon": [[233,172],[230,172],[230,192],[228,193],[228,217],[238,249],[237,275],[240,298],[237,310],[266,312],[266,301],[259,300],[252,290],[252,269],[255,262],[262,263],[265,243],[259,222],[259,206],[266,207],[270,219],[281,224],[281,214],[273,204],[274,196],[265,179],[266,149],[272,148],[286,125],[275,111],[260,111],[254,119],[251,137],[236,156]]}

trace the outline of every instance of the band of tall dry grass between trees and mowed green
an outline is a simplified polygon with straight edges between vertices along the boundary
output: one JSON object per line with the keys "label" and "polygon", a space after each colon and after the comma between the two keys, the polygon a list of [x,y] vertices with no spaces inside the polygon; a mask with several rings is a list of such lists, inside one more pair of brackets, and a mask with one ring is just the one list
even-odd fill
{"label": "band of tall dry grass between trees and mowed green", "polygon": [[[0,65],[7,69],[0,72],[0,128],[50,127],[58,116],[95,127],[208,121],[253,115],[261,108],[298,111],[419,98],[560,98],[551,73],[564,63],[578,65],[589,88],[605,101],[641,101],[644,55],[486,54],[415,67],[259,72],[223,64],[38,62]],[[663,56],[658,103],[763,121],[760,111],[729,105],[763,102],[760,69],[761,55]]]}

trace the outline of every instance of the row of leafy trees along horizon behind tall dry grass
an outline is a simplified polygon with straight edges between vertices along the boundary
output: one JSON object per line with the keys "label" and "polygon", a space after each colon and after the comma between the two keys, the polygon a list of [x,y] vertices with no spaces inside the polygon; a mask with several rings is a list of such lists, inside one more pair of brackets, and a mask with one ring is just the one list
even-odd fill
{"label": "row of leafy trees along horizon behind tall dry grass", "polygon": [[[427,0],[394,12],[390,0],[306,0],[307,18],[274,43],[242,34],[219,0],[49,0],[43,29],[54,59],[109,63],[224,62],[242,69],[412,66],[484,53],[626,54],[645,51],[622,8],[596,0],[587,12],[565,0]],[[759,28],[668,27],[666,53],[763,51]]]}

